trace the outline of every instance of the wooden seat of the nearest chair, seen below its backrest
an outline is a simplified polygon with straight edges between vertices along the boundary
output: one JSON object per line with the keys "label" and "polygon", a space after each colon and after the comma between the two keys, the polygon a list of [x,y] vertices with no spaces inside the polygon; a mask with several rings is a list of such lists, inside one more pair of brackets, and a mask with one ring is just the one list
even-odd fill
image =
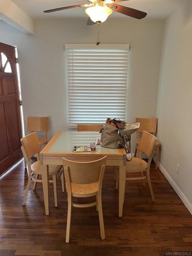
{"label": "wooden seat of the nearest chair, seen below its backrest", "polygon": [[[66,190],[67,190],[67,182],[66,182]],[[98,182],[94,182],[90,184],[71,183],[72,194],[87,195],[87,194],[96,193],[97,191],[98,191]]]}

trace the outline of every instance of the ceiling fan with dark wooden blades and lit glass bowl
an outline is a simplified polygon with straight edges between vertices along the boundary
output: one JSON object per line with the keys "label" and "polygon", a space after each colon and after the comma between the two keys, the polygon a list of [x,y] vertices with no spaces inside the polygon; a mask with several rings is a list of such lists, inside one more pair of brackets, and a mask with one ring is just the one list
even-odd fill
{"label": "ceiling fan with dark wooden blades and lit glass bowl", "polygon": [[113,11],[125,14],[127,16],[143,19],[146,17],[147,13],[139,10],[135,10],[129,7],[116,5],[118,2],[128,1],[128,0],[87,0],[89,4],[85,5],[73,5],[67,7],[61,7],[56,9],[51,9],[44,11],[44,13],[61,11],[65,9],[71,9],[76,7],[86,7],[85,13],[89,16],[87,25],[100,24],[107,20],[107,17],[112,14]]}

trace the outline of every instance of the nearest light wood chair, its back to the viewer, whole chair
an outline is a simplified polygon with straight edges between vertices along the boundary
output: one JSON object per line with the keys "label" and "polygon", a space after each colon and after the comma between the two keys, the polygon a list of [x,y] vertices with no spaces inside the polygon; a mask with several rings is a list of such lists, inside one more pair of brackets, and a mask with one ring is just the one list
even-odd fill
{"label": "nearest light wood chair, its back to the viewer, whole chair", "polygon": [[[105,239],[104,221],[101,203],[101,188],[107,156],[91,162],[74,162],[63,159],[63,169],[67,190],[67,228],[66,242],[70,240],[71,210],[74,207],[95,206],[99,213],[101,239]],[[79,204],[73,203],[72,197],[91,197],[96,195],[95,202]]]}

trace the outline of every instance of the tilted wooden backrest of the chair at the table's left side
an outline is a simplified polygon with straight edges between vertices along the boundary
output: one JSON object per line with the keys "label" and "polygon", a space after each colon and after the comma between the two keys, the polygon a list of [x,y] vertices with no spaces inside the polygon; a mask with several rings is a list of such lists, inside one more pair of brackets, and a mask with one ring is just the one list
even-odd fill
{"label": "tilted wooden backrest of the chair at the table's left side", "polygon": [[22,147],[21,147],[22,151],[24,150],[26,153],[26,156],[24,154],[23,155],[25,158],[27,157],[28,160],[30,160],[30,158],[33,155],[41,151],[41,147],[39,145],[39,140],[36,132],[30,133],[25,137],[23,137],[21,139],[21,144],[22,144]]}

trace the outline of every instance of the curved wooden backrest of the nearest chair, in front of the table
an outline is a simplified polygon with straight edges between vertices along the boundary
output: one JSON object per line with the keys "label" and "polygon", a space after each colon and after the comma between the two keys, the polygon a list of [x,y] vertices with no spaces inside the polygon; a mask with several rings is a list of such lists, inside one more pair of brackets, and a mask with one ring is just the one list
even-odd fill
{"label": "curved wooden backrest of the nearest chair, in front of the table", "polygon": [[101,189],[107,156],[91,162],[74,162],[66,158],[62,159],[68,194],[71,193],[70,183],[90,184],[99,182],[98,191]]}

